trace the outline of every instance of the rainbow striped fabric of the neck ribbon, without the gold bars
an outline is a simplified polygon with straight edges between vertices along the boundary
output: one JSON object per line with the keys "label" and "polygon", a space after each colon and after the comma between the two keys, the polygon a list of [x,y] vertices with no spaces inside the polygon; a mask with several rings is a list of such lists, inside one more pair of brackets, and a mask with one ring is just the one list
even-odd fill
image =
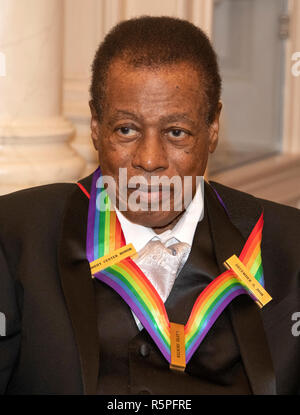
{"label": "rainbow striped fabric of the neck ribbon, without the gold bars", "polygon": [[[82,189],[82,185],[79,185]],[[84,191],[84,189],[82,189]],[[84,192],[86,194],[86,191]],[[97,208],[99,200],[105,209]],[[239,259],[263,286],[261,238],[263,214],[253,228]],[[98,168],[93,174],[88,211],[87,259],[91,263],[125,245],[115,210],[111,206]],[[171,361],[170,322],[162,299],[142,270],[130,258],[108,266],[94,277],[113,288],[135,313],[165,359]],[[186,364],[227,305],[248,290],[227,270],[215,278],[198,296],[184,328]]]}

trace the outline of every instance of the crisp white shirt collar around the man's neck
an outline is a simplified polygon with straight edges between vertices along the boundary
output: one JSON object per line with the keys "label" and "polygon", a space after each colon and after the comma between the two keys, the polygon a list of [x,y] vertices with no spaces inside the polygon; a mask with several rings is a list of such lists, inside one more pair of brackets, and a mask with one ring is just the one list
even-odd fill
{"label": "crisp white shirt collar around the man's neck", "polygon": [[124,233],[126,244],[133,243],[137,252],[152,239],[159,239],[162,243],[166,243],[168,240],[175,238],[178,242],[185,242],[191,246],[197,224],[202,220],[204,214],[203,180],[198,185],[191,203],[174,228],[161,234],[157,234],[152,228],[129,221],[118,209],[115,210]]}

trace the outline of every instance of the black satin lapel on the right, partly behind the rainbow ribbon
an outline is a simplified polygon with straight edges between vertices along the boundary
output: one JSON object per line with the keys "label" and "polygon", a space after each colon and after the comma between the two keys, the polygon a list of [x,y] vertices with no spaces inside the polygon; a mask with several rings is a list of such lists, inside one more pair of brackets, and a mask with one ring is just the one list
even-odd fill
{"label": "black satin lapel on the right, partly behind the rainbow ribbon", "polygon": [[[233,254],[240,254],[245,239],[229,220],[213,189],[207,183],[205,186],[205,202],[216,258],[220,272],[224,272],[223,262]],[[245,218],[248,223],[244,228],[251,230],[261,211],[258,203],[253,204],[251,214],[248,212]],[[229,310],[252,392],[274,394],[275,375],[260,309],[249,296],[240,295],[229,305]]]}

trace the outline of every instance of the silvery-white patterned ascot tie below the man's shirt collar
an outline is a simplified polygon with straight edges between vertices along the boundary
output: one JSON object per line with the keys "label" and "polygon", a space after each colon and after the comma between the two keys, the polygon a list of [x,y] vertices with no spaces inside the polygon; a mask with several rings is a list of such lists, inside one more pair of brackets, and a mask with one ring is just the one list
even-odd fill
{"label": "silvery-white patterned ascot tie below the man's shirt collar", "polygon": [[[165,302],[189,253],[190,245],[186,242],[178,242],[175,238],[168,240],[165,245],[160,240],[151,240],[139,251],[134,262]],[[133,315],[141,329],[141,323],[134,313]]]}

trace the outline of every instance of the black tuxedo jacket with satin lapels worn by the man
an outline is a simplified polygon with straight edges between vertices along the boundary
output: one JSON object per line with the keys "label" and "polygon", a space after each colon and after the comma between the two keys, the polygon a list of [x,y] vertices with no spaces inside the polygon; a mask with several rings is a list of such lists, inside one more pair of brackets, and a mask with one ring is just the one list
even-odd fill
{"label": "black tuxedo jacket with satin lapels worn by the man", "polygon": [[[91,177],[82,183],[89,189]],[[292,326],[300,312],[300,213],[217,183],[205,184],[205,200],[220,273],[264,211],[262,260],[273,300],[260,310],[241,295],[228,309],[251,392],[299,393],[300,336]],[[87,210],[88,199],[76,184],[0,198],[0,311],[6,316],[1,393],[96,393],[101,354],[99,359],[95,292],[85,258]],[[197,256],[197,247],[191,255]]]}

